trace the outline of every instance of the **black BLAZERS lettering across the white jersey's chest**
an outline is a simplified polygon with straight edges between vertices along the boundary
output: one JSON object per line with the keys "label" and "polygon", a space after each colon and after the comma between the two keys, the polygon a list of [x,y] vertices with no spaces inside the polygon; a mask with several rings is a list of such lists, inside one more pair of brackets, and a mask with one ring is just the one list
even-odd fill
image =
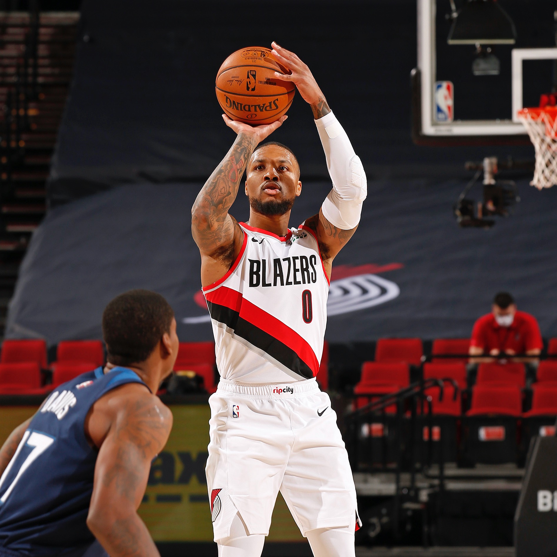
{"label": "black BLAZERS lettering across the white jersey's chest", "polygon": [[317,282],[317,257],[295,255],[274,258],[272,264],[266,259],[250,259],[250,287],[291,286]]}

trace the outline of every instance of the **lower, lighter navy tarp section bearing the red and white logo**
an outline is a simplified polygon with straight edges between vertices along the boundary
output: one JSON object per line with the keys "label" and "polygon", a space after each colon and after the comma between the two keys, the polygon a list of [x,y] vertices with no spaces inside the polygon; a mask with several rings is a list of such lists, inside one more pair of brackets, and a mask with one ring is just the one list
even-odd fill
{"label": "lower, lighter navy tarp section bearing the red and white logo", "polygon": [[[180,339],[212,340],[190,233],[199,188],[127,185],[53,209],[21,267],[8,336],[100,338],[105,304],[144,287],[172,304]],[[291,226],[315,214],[329,188],[306,182]],[[520,182],[514,216],[485,231],[457,227],[451,205],[461,188],[456,180],[369,182],[359,229],[333,267],[326,339],[467,337],[499,290],[538,318],[544,336],[557,335],[557,190]],[[232,214],[248,216],[242,192]]]}

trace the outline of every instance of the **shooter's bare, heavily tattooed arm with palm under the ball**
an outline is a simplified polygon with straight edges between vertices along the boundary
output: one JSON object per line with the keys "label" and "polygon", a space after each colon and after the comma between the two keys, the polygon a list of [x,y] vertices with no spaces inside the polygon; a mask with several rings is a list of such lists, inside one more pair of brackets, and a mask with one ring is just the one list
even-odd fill
{"label": "shooter's bare, heavily tattooed arm with palm under the ball", "polygon": [[192,207],[192,234],[201,252],[201,282],[212,284],[226,274],[240,253],[243,233],[228,210],[236,199],[240,179],[257,144],[272,134],[287,116],[272,124],[250,126],[222,115],[238,134]]}

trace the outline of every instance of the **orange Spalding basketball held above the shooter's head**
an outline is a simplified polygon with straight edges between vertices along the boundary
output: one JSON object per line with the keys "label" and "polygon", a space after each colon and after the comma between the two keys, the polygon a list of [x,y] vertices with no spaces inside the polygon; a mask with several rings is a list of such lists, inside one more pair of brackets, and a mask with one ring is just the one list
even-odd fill
{"label": "orange Spalding basketball held above the shooter's head", "polygon": [[218,70],[215,89],[219,104],[233,120],[270,124],[292,104],[295,85],[276,79],[288,71],[273,60],[271,49],[250,46],[233,52]]}

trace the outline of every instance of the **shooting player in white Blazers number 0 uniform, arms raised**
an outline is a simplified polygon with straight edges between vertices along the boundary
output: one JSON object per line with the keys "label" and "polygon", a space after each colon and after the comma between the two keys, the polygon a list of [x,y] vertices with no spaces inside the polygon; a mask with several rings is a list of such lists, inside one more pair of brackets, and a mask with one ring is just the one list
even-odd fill
{"label": "shooting player in white Blazers number 0 uniform, arms raised", "polygon": [[[220,557],[261,555],[280,490],[318,557],[354,555],[359,522],[348,455],[315,375],[331,264],[354,233],[367,188],[348,136],[308,67],[272,43],[311,105],[333,189],[319,214],[289,229],[300,169],[289,148],[257,145],[286,119],[238,134],[192,209],[201,280],[221,374],[210,399],[207,485]],[[246,170],[250,219],[228,214]]]}

